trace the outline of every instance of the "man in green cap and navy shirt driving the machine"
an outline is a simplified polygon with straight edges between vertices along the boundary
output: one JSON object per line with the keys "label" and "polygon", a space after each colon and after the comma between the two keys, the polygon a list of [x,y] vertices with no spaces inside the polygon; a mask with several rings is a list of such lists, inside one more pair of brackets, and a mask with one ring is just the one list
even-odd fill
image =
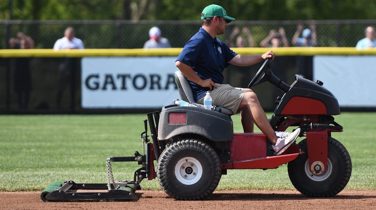
{"label": "man in green cap and navy shirt driving the machine", "polygon": [[226,25],[235,18],[227,16],[219,5],[209,5],[201,13],[201,25],[184,46],[176,59],[176,67],[188,79],[194,100],[203,104],[206,91],[210,92],[213,104],[229,108],[234,114],[241,111],[244,132],[253,132],[253,123],[273,143],[276,155],[282,154],[300,134],[300,128],[294,132],[274,132],[256,94],[249,88],[234,88],[223,84],[222,72],[229,64],[249,66],[264,59],[274,59],[269,51],[262,55],[240,55],[233,52],[215,35],[224,33]]}

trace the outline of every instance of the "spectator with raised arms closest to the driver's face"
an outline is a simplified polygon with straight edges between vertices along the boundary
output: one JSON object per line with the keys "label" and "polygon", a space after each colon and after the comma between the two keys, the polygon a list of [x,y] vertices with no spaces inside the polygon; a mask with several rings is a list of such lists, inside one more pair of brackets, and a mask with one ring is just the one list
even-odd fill
{"label": "spectator with raised arms closest to the driver's face", "polygon": [[[241,29],[242,34],[238,35],[240,33],[240,29],[238,27],[235,27],[229,38],[226,40],[229,47],[254,47],[255,42],[253,41],[251,32],[249,28],[244,27]],[[235,39],[236,37],[236,39]],[[235,39],[235,42],[234,42]]]}

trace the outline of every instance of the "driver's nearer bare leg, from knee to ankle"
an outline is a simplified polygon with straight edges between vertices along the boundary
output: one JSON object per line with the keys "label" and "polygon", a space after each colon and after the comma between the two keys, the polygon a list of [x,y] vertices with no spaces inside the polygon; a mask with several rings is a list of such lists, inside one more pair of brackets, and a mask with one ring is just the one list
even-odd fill
{"label": "driver's nearer bare leg, from knee to ankle", "polygon": [[[270,126],[268,118],[266,117],[266,114],[264,110],[262,109],[261,104],[259,100],[257,99],[256,94],[253,93],[252,91],[246,92],[244,94],[243,99],[240,102],[239,108],[243,108],[243,110],[244,109],[248,110],[248,113],[250,114],[248,118],[253,119],[253,122],[255,122],[256,126],[265,134],[265,136],[271,141],[271,143],[275,145],[278,137],[276,136],[276,133],[274,132],[273,128]],[[242,118],[242,123],[243,123],[243,119],[246,116],[242,116],[242,117],[243,117]]]}

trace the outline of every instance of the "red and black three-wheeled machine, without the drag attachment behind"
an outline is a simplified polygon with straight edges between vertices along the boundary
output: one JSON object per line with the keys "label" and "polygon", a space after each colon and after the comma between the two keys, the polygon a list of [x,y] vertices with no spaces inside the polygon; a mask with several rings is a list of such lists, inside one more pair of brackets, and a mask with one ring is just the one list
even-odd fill
{"label": "red and black three-wheeled machine, without the drag attachment behind", "polygon": [[[351,159],[346,148],[331,137],[331,132],[343,131],[333,117],[341,113],[337,99],[321,81],[313,82],[302,75],[296,75],[295,82],[289,86],[276,78],[265,64],[261,67],[265,67],[265,74],[259,81],[269,81],[285,92],[277,99],[270,125],[275,131],[291,132],[300,128],[300,137],[305,139],[276,155],[264,134],[233,133],[231,115],[220,113],[220,109],[218,112],[218,109],[200,107],[164,107],[158,117],[158,142],[166,146],[161,146],[160,158],[156,155],[156,176],[168,195],[175,199],[202,199],[205,196],[197,198],[190,190],[196,186],[195,192],[209,195],[219,182],[218,173],[225,175],[230,169],[275,169],[283,164],[288,164],[291,183],[306,196],[333,196],[346,186],[351,175]],[[259,72],[257,75],[260,76]],[[255,78],[249,86],[255,84]],[[198,165],[206,167],[202,183],[196,181],[197,175],[191,174],[200,171]],[[172,184],[163,181],[167,178],[174,180]],[[209,183],[209,186],[202,187],[199,183]]]}

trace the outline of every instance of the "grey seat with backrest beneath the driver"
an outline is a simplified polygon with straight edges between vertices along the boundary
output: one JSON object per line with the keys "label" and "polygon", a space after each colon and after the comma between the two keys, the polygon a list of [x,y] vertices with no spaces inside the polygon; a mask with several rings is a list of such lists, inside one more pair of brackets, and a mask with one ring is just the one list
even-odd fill
{"label": "grey seat with backrest beneath the driver", "polygon": [[[204,105],[194,101],[191,85],[189,84],[185,76],[180,71],[176,71],[174,76],[177,85],[177,90],[179,91],[180,99],[203,108]],[[233,115],[233,112],[226,107],[215,107],[214,111],[223,114]]]}

